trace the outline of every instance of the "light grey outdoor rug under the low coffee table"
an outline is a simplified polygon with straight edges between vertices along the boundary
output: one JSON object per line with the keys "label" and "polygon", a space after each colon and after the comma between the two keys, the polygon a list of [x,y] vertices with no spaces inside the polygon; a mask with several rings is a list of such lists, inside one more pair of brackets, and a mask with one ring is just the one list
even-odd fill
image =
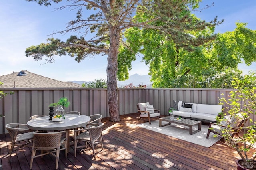
{"label": "light grey outdoor rug under the low coffee table", "polygon": [[[162,125],[166,123],[168,122],[162,121]],[[149,130],[153,130],[154,132],[166,134],[174,138],[185,140],[194,144],[199,144],[201,146],[205,146],[208,148],[222,138],[221,136],[213,137],[213,133],[210,133],[209,138],[206,139],[206,135],[209,128],[208,125],[202,125],[201,131],[192,135],[189,134],[189,127],[183,125],[176,125],[172,123],[171,125],[159,127],[159,120],[151,121],[151,125],[149,125],[149,123],[146,122],[138,124],[138,126]],[[193,128],[193,131],[198,129],[198,125],[193,126]]]}

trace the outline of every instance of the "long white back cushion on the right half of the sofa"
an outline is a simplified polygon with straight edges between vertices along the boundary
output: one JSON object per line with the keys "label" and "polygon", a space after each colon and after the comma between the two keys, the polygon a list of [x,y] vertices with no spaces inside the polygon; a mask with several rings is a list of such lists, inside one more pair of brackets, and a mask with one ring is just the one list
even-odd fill
{"label": "long white back cushion on the right half of the sofa", "polygon": [[222,112],[222,105],[197,104],[196,106],[196,113],[212,114],[216,116],[220,112]]}

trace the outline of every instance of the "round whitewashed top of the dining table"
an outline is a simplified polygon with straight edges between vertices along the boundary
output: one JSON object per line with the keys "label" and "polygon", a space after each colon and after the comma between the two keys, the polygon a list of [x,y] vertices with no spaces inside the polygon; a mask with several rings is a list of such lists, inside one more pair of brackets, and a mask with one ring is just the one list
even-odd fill
{"label": "round whitewashed top of the dining table", "polygon": [[49,120],[49,116],[38,117],[27,122],[28,128],[32,130],[67,130],[78,128],[90,123],[91,118],[86,115],[65,115],[65,120],[53,122]]}

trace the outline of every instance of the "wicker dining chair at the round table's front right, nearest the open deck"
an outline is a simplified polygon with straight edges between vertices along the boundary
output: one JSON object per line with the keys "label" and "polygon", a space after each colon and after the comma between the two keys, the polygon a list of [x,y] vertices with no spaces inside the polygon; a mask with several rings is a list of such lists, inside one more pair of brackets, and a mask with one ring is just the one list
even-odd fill
{"label": "wicker dining chair at the round table's front right, nearest the open deck", "polygon": [[[75,157],[76,157],[76,149],[77,148],[83,148],[81,151],[87,148],[87,146],[90,146],[92,148],[92,152],[94,155],[94,159],[96,159],[96,154],[94,151],[94,145],[101,144],[102,150],[103,148],[103,142],[102,142],[102,136],[101,131],[104,123],[92,123],[89,128],[79,129],[75,130],[75,132],[80,132],[78,136],[76,136],[77,133],[74,133],[75,137]],[[84,141],[85,144],[78,146],[78,141]]]}

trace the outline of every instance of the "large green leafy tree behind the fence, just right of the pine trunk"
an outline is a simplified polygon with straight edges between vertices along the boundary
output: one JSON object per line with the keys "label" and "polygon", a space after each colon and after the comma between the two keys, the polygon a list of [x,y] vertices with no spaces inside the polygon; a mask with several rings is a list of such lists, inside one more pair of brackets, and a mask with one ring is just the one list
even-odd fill
{"label": "large green leafy tree behind the fence, just right of the pine trunk", "polygon": [[[197,24],[204,22],[190,12],[184,14],[184,18]],[[200,24],[192,24],[184,29],[184,34],[177,32],[173,36],[150,28],[130,28],[125,34],[126,48],[121,48],[119,55],[143,54],[143,61],[150,66],[153,87],[177,87],[172,80],[179,77],[180,83],[184,84],[189,74],[200,75],[202,69],[210,67],[204,49],[210,48],[216,38],[214,26],[200,27]]]}

